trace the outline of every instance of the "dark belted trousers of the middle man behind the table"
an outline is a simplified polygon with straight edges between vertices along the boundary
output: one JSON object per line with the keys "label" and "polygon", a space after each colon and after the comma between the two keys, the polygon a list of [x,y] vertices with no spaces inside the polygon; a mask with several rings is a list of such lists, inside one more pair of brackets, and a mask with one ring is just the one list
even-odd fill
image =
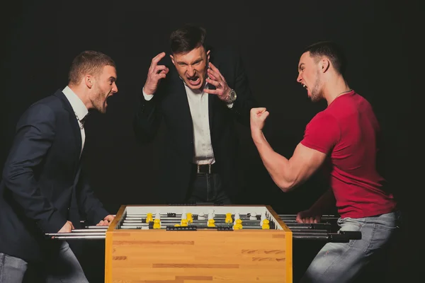
{"label": "dark belted trousers of the middle man behind the table", "polygon": [[194,174],[189,187],[189,203],[220,202],[231,204],[229,197],[222,190],[222,181],[217,173]]}

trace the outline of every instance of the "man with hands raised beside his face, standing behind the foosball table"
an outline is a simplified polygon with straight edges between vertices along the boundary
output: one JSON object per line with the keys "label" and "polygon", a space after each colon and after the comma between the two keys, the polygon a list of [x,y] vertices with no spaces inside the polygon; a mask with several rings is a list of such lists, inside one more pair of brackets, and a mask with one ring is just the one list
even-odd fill
{"label": "man with hands raised beside his face, standing behind the foosball table", "polygon": [[164,119],[167,133],[159,192],[166,203],[238,200],[237,130],[249,125],[256,105],[242,60],[231,49],[210,50],[205,29],[186,24],[171,33],[175,68],[152,59],[135,115],[135,134],[154,139]]}

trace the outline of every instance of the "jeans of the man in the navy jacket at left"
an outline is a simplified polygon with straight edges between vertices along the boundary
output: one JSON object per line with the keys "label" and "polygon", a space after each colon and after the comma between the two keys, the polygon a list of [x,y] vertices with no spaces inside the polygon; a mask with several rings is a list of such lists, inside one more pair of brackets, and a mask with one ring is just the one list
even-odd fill
{"label": "jeans of the man in the navy jacket at left", "polygon": [[[53,240],[52,240],[53,241]],[[28,272],[33,267],[33,274]],[[46,282],[46,283],[88,283],[77,258],[63,241],[57,257],[50,258],[43,265],[34,265],[4,253],[0,253],[0,283]]]}

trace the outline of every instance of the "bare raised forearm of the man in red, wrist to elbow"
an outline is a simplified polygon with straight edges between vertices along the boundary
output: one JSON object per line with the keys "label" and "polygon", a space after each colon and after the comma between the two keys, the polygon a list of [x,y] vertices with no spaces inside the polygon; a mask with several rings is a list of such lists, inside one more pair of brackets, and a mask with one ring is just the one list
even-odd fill
{"label": "bare raised forearm of the man in red, wrist to elbow", "polygon": [[297,182],[295,174],[291,171],[290,161],[273,150],[263,132],[253,132],[252,137],[261,161],[263,161],[274,183],[284,192],[295,187]]}

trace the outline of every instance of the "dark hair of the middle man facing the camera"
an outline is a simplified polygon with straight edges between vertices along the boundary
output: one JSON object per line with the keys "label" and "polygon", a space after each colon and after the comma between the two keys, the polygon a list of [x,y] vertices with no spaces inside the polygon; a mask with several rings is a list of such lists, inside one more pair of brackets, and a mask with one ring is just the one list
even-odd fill
{"label": "dark hair of the middle man facing the camera", "polygon": [[206,50],[207,32],[200,25],[186,23],[170,35],[170,47],[173,54],[188,53],[203,46]]}

